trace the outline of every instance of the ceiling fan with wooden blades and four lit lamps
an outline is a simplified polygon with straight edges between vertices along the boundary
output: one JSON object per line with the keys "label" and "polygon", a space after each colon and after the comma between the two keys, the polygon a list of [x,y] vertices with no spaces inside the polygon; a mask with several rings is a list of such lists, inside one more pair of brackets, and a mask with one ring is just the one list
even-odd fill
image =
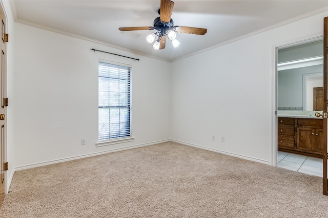
{"label": "ceiling fan with wooden blades and four lit lamps", "polygon": [[174,2],[170,0],[160,0],[160,8],[158,9],[159,17],[154,19],[154,27],[120,27],[120,31],[133,31],[133,30],[157,30],[156,33],[151,33],[147,36],[147,41],[153,43],[156,36],[158,37],[153,45],[155,50],[165,49],[166,38],[172,40],[173,46],[179,46],[180,42],[175,39],[176,33],[189,33],[204,35],[207,29],[196,27],[183,27],[174,26],[173,19],[171,19]]}

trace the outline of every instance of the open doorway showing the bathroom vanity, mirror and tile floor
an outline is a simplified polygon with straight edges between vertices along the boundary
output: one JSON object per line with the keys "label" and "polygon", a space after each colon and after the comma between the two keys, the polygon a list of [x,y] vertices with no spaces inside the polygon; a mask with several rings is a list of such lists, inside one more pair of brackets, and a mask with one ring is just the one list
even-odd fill
{"label": "open doorway showing the bathroom vanity, mirror and tile floor", "polygon": [[322,109],[315,100],[323,87],[322,47],[320,37],[277,48],[275,134],[277,166],[321,177],[323,126],[315,114]]}

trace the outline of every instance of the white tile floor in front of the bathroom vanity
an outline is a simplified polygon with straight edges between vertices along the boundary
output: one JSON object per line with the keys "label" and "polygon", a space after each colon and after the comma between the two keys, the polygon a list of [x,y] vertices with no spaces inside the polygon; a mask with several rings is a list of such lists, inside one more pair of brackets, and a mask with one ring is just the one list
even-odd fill
{"label": "white tile floor in front of the bathroom vanity", "polygon": [[277,166],[322,177],[322,159],[278,151]]}

